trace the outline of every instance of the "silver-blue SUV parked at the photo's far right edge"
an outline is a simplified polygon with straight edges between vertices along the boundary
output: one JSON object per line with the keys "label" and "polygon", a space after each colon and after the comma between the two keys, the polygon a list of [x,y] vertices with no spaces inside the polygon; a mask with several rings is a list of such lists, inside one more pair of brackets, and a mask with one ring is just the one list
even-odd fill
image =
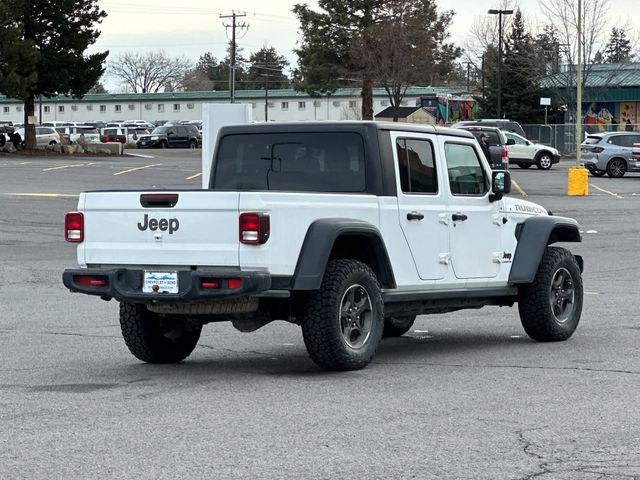
{"label": "silver-blue SUV parked at the photo's far right edge", "polygon": [[627,172],[640,172],[640,161],[631,158],[634,143],[640,143],[640,133],[589,135],[581,145],[582,162],[595,177],[606,173],[612,178],[620,178]]}

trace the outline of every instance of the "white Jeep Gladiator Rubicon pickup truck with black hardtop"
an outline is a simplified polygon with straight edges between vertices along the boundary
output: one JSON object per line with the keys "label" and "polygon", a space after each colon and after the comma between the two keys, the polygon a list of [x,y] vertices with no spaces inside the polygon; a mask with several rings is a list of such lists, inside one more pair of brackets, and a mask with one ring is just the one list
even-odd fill
{"label": "white Jeep Gladiator Rubicon pickup truck with black hardtop", "polygon": [[504,194],[462,130],[376,122],[225,127],[207,190],[87,192],[65,218],[73,292],[120,302],[138,359],[179,362],[203,325],[302,327],[311,358],[365,367],[416,315],[518,304],[527,334],[569,338],[575,220]]}

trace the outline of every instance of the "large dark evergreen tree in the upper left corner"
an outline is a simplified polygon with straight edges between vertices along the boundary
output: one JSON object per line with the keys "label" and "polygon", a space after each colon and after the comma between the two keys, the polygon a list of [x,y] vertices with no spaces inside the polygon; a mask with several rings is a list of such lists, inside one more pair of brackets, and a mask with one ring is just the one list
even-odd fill
{"label": "large dark evergreen tree in the upper left corner", "polygon": [[81,97],[104,73],[109,52],[85,55],[106,17],[96,0],[3,0],[0,93],[24,101],[26,144],[35,148],[35,98]]}

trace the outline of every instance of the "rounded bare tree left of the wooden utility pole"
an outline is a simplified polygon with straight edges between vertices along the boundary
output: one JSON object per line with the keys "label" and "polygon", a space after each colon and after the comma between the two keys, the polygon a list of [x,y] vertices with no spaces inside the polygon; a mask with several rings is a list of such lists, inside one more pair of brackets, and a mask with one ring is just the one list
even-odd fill
{"label": "rounded bare tree left of the wooden utility pole", "polygon": [[109,63],[109,75],[135,93],[172,91],[182,85],[191,67],[186,57],[171,58],[164,51],[127,52]]}

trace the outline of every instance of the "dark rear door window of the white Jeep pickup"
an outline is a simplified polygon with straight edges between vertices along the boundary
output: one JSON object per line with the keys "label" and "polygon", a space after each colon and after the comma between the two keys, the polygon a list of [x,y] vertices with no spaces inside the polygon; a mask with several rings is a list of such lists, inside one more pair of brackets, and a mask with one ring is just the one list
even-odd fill
{"label": "dark rear door window of the white Jeep pickup", "polygon": [[396,140],[400,188],[405,193],[438,193],[433,145],[428,140]]}

